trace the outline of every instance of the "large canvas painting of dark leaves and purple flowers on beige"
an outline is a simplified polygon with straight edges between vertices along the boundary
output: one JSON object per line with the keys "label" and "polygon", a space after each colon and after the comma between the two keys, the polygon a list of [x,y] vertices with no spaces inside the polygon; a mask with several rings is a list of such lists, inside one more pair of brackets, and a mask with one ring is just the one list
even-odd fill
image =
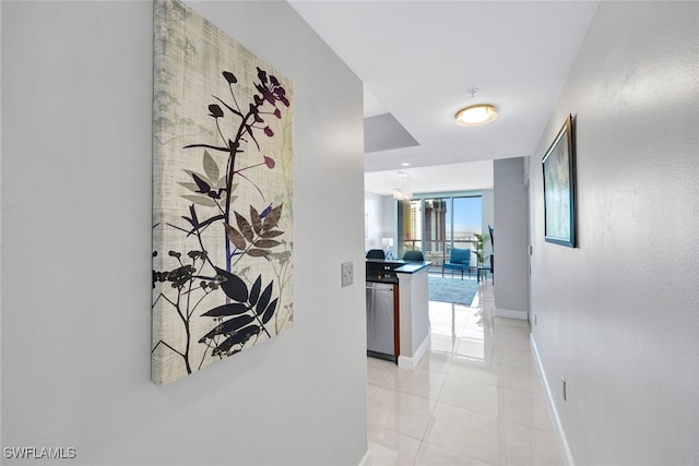
{"label": "large canvas painting of dark leaves and purple flowers on beige", "polygon": [[293,86],[179,1],[154,2],[152,379],[293,323]]}

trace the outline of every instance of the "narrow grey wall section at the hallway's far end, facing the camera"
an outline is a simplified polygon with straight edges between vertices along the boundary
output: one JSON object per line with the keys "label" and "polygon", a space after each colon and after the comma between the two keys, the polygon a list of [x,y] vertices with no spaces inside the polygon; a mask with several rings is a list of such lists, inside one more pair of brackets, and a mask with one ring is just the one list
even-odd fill
{"label": "narrow grey wall section at the hallway's far end, facing the camera", "polygon": [[495,313],[526,319],[529,262],[522,158],[494,160],[493,171]]}

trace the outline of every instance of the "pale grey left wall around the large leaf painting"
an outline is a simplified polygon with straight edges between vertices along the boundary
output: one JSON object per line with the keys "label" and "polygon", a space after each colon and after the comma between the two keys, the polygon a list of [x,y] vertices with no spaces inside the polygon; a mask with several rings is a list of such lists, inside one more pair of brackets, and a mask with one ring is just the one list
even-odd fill
{"label": "pale grey left wall around the large leaf painting", "polygon": [[294,327],[150,381],[152,3],[3,1],[2,446],[74,447],[75,465],[356,465],[362,83],[286,3],[192,7],[294,82]]}

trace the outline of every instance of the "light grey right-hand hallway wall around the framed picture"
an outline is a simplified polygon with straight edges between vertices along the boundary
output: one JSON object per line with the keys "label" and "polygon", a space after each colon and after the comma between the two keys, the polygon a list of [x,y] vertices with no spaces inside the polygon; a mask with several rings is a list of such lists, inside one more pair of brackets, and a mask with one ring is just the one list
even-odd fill
{"label": "light grey right-hand hallway wall around the framed picture", "polygon": [[[698,62],[699,3],[601,2],[532,157],[533,338],[579,465],[699,464]],[[543,239],[568,113],[577,249]]]}

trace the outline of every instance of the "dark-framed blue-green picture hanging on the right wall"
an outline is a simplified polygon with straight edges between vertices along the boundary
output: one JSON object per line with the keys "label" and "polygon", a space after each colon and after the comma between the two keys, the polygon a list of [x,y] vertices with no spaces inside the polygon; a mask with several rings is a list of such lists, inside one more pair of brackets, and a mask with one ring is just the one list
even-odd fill
{"label": "dark-framed blue-green picture hanging on the right wall", "polygon": [[576,247],[574,120],[566,118],[542,160],[544,171],[544,240]]}

